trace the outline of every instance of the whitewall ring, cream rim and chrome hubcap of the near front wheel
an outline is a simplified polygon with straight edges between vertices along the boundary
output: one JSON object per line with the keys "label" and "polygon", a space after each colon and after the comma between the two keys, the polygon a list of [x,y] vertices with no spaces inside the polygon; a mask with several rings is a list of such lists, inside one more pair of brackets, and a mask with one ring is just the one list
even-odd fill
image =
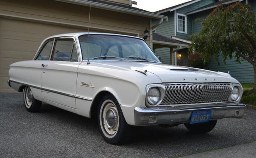
{"label": "whitewall ring, cream rim and chrome hubcap of the near front wheel", "polygon": [[105,106],[103,106],[103,109],[101,109],[102,126],[107,135],[114,136],[118,130],[118,124],[119,124],[119,116],[118,116],[117,108],[112,101],[111,102],[105,101],[103,105]]}

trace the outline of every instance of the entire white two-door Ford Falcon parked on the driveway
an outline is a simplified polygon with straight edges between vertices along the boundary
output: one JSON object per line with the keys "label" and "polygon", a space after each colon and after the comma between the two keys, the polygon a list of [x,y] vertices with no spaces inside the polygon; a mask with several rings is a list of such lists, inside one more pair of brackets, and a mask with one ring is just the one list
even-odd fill
{"label": "entire white two-door Ford Falcon parked on the driveway", "polygon": [[42,102],[98,118],[105,141],[121,144],[132,126],[184,124],[211,131],[218,119],[244,115],[243,88],[228,73],[164,65],[138,37],[69,33],[46,38],[33,60],[10,65],[9,86],[25,108]]}

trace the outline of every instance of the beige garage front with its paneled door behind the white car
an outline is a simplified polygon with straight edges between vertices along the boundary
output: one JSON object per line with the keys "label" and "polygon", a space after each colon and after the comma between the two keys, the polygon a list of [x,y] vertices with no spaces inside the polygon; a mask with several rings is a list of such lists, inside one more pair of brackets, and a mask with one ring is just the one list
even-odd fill
{"label": "beige garage front with its paneled door behind the white car", "polygon": [[[11,63],[31,60],[46,37],[88,32],[88,19],[86,6],[53,0],[0,0],[0,93],[15,92],[7,84]],[[150,21],[147,17],[91,8],[90,32],[143,37]]]}

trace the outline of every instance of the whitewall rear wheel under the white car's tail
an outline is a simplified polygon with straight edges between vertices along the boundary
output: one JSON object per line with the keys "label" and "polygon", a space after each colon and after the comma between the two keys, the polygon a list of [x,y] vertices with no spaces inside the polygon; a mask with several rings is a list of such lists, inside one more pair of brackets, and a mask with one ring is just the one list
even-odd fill
{"label": "whitewall rear wheel under the white car's tail", "polygon": [[40,110],[42,102],[34,98],[32,91],[28,86],[23,90],[23,100],[27,111],[38,112]]}

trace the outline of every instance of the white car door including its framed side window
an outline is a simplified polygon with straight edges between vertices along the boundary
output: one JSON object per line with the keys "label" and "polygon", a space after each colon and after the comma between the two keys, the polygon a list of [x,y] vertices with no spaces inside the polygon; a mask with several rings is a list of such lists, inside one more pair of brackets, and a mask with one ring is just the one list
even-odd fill
{"label": "white car door including its framed side window", "polygon": [[55,38],[51,60],[42,64],[42,95],[45,102],[76,108],[77,69],[80,62],[75,39]]}

